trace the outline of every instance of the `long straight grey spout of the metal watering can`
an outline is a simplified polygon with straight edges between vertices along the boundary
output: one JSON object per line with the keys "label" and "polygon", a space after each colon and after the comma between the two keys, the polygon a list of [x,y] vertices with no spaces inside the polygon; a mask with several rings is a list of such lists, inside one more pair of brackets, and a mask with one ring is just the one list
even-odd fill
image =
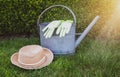
{"label": "long straight grey spout of the metal watering can", "polygon": [[85,36],[88,34],[88,32],[92,29],[94,24],[99,19],[99,16],[96,16],[93,21],[88,25],[88,27],[83,31],[83,33],[78,37],[78,39],[75,42],[75,48],[81,43],[81,41],[85,38]]}

